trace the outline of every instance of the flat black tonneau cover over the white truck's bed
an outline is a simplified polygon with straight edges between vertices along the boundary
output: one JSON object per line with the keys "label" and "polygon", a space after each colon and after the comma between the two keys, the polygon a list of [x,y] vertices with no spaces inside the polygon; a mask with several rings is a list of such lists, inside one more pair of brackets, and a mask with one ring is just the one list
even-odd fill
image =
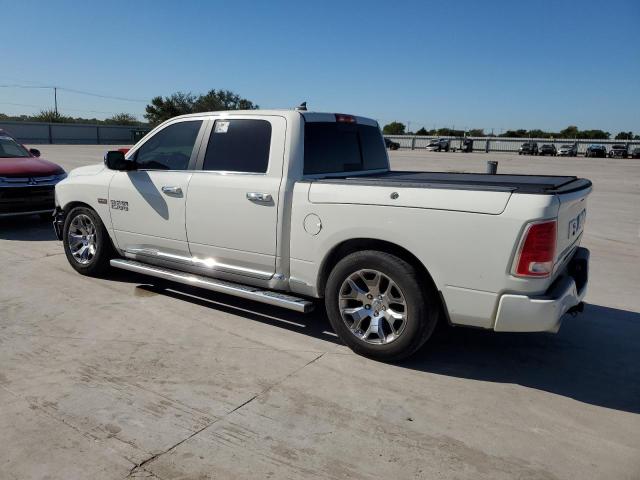
{"label": "flat black tonneau cover over the white truck's bed", "polygon": [[403,171],[352,177],[325,177],[317,181],[352,185],[492,190],[547,195],[574,192],[591,186],[589,180],[571,176]]}

